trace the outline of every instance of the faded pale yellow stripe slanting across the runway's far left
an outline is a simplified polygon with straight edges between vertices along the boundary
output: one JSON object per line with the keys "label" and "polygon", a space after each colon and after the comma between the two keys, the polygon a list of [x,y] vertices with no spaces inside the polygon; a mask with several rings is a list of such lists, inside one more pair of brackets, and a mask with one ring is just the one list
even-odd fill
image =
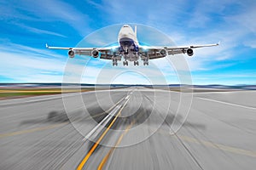
{"label": "faded pale yellow stripe slanting across the runway's far left", "polygon": [[9,136],[15,136],[15,135],[18,135],[18,134],[34,133],[34,132],[37,132],[37,131],[47,130],[47,129],[50,129],[50,128],[61,127],[63,125],[66,125],[67,123],[68,122],[63,122],[63,123],[50,125],[50,126],[46,126],[46,127],[36,127],[36,128],[27,129],[27,130],[16,131],[16,132],[13,132],[13,133],[2,133],[2,134],[0,134],[0,139],[4,138],[4,137],[9,137]]}

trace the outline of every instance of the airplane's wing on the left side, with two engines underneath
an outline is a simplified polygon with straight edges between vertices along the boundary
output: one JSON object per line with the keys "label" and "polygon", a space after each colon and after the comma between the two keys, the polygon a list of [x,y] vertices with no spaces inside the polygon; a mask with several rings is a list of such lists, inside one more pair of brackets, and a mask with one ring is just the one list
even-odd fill
{"label": "airplane's wing on the left side, with two engines underneath", "polygon": [[[49,49],[64,49],[69,50],[68,55],[73,57],[75,54],[79,55],[90,55],[90,56],[98,56],[100,54],[101,59],[112,59],[113,57],[113,49],[116,47],[106,47],[106,48],[63,48],[63,47],[49,47],[46,44],[46,48]],[[94,54],[95,53],[95,54]]]}

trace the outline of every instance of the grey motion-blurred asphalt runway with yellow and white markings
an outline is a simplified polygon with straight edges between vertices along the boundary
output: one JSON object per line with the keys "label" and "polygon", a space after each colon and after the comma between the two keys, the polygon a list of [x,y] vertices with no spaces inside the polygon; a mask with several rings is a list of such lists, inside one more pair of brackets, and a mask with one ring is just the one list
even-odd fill
{"label": "grey motion-blurred asphalt runway with yellow and white markings", "polygon": [[0,169],[255,169],[256,91],[195,93],[191,107],[190,96],[121,88],[0,101]]}

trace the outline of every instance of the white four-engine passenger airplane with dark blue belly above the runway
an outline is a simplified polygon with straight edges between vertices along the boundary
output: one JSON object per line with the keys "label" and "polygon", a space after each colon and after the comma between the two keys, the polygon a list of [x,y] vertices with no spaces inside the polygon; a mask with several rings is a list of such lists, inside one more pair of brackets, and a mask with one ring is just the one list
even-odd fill
{"label": "white four-engine passenger airplane with dark blue belly above the runway", "polygon": [[49,47],[46,44],[46,48],[49,49],[66,49],[68,55],[73,58],[75,54],[90,55],[94,58],[100,56],[100,59],[112,59],[113,65],[118,65],[122,57],[124,58],[123,65],[128,65],[128,61],[133,61],[134,65],[139,65],[138,60],[143,60],[143,65],[148,65],[148,59],[158,59],[166,57],[167,55],[174,54],[188,54],[192,56],[194,54],[192,48],[204,48],[218,46],[219,43],[207,44],[207,45],[190,45],[183,47],[145,47],[140,46],[137,41],[137,26],[133,31],[131,26],[124,25],[119,31],[118,37],[119,47],[104,47],[104,48],[61,48],[61,47]]}

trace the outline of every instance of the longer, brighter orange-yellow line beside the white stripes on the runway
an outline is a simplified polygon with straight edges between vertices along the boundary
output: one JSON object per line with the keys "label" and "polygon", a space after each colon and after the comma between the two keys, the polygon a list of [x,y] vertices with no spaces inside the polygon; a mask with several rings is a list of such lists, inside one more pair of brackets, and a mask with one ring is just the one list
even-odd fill
{"label": "longer, brighter orange-yellow line beside the white stripes on the runway", "polygon": [[122,106],[122,108],[119,110],[118,114],[114,117],[113,121],[108,125],[107,129],[104,131],[104,133],[102,133],[102,136],[96,141],[96,144],[94,144],[92,146],[92,148],[90,149],[90,151],[87,153],[87,155],[84,157],[83,161],[80,162],[79,167],[77,167],[77,170],[81,170],[84,167],[84,164],[86,163],[86,161],[88,161],[88,159],[90,158],[91,154],[94,152],[94,150],[96,150],[96,147],[100,144],[100,142],[102,141],[102,139],[104,138],[104,136],[106,135],[106,133],[108,133],[108,130],[113,126],[113,123],[116,121],[117,117],[121,114],[121,112],[123,111],[123,109],[125,108],[125,105],[127,104],[127,102],[129,101],[129,99],[126,100],[125,104]]}

